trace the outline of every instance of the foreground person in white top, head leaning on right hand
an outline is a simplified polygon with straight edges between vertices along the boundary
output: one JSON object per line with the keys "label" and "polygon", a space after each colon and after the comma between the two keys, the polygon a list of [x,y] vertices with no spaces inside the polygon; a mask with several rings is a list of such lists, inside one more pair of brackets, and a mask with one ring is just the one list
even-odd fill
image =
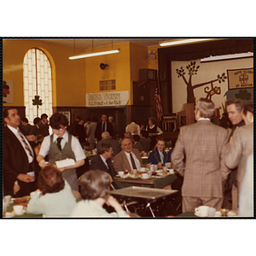
{"label": "foreground person in white top, head leaning on right hand", "polygon": [[[107,172],[99,170],[85,172],[79,178],[82,201],[74,207],[73,218],[129,218],[119,202],[110,195],[110,178]],[[113,207],[115,212],[108,213],[104,204]]]}

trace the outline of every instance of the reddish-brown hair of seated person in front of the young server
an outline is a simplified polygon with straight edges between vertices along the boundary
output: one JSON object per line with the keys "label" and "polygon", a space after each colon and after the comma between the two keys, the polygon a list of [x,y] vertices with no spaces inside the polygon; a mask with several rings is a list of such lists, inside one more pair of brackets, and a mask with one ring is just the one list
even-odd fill
{"label": "reddish-brown hair of seated person in front of the young server", "polygon": [[56,193],[64,189],[65,181],[62,174],[55,166],[46,166],[39,172],[38,189],[42,194]]}

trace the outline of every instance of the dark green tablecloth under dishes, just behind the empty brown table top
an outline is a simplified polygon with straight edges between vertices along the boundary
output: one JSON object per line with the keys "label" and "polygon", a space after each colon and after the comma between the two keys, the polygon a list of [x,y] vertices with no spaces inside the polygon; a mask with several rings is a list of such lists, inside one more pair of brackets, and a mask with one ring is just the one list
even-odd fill
{"label": "dark green tablecloth under dishes, just behind the empty brown table top", "polygon": [[[176,174],[172,174],[172,175],[167,175],[166,177],[150,177],[150,179],[154,181],[154,188],[163,189],[167,185],[172,184],[177,179],[177,176]],[[141,179],[140,177],[137,178],[137,180],[143,181],[143,179]],[[127,181],[127,183],[118,182],[115,178],[114,178],[114,181],[116,185],[119,187],[119,189],[131,187],[131,186],[141,186],[140,184],[129,183],[129,181]]]}

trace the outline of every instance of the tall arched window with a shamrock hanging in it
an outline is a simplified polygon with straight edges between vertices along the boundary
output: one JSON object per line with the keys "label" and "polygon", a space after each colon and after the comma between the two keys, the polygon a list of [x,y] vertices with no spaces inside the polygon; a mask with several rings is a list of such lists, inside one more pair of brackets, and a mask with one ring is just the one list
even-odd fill
{"label": "tall arched window with a shamrock hanging in it", "polygon": [[[24,103],[30,123],[42,113],[52,115],[52,76],[47,55],[40,49],[29,49],[23,61]],[[39,98],[38,98],[39,96]],[[37,100],[38,99],[38,100]],[[40,102],[42,105],[33,105]]]}

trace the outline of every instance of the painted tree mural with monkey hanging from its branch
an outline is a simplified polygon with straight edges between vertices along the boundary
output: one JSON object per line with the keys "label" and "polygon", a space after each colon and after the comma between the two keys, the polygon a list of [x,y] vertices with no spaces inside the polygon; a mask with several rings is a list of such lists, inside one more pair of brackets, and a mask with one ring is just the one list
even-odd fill
{"label": "painted tree mural with monkey hanging from its branch", "polygon": [[176,69],[176,73],[177,73],[177,78],[182,77],[183,81],[185,84],[187,84],[187,103],[194,103],[195,102],[195,94],[194,94],[194,90],[198,87],[207,85],[207,84],[211,84],[211,89],[209,89],[209,87],[207,86],[204,91],[207,93],[207,98],[212,99],[212,96],[214,94],[220,94],[220,87],[218,86],[214,86],[213,87],[213,83],[217,82],[219,84],[221,84],[222,82],[225,81],[225,79],[227,79],[225,73],[222,73],[222,75],[217,76],[217,79],[211,80],[211,81],[207,81],[201,84],[194,84],[192,85],[192,76],[196,75],[198,72],[200,66],[195,67],[195,61],[191,61],[190,64],[188,66],[186,66],[186,68],[188,69],[188,74],[189,74],[189,80],[187,80],[184,75],[186,74],[183,67],[180,67],[180,69]]}

